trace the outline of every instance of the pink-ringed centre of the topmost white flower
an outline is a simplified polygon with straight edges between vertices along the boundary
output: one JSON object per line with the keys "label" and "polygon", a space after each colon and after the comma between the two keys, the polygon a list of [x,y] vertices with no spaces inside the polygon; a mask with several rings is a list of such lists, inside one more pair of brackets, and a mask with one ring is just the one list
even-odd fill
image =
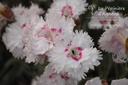
{"label": "pink-ringed centre of the topmost white flower", "polygon": [[72,7],[71,6],[64,6],[61,10],[62,12],[62,16],[65,17],[72,17],[73,16],[73,12],[72,12]]}

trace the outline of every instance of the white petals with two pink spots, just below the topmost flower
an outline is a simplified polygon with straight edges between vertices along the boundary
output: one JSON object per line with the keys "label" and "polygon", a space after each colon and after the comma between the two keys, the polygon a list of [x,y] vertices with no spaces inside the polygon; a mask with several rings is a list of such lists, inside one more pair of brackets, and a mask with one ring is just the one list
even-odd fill
{"label": "white petals with two pink spots, just below the topmost flower", "polygon": [[65,34],[72,34],[75,26],[75,23],[71,18],[61,17],[56,13],[47,13],[46,23],[53,40]]}

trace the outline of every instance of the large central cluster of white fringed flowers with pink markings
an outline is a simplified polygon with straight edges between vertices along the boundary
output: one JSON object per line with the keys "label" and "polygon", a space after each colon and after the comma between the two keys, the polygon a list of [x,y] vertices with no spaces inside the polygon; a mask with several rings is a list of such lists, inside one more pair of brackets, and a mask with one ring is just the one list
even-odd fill
{"label": "large central cluster of white fringed flowers with pink markings", "polygon": [[49,61],[37,85],[77,85],[100,64],[101,54],[91,37],[73,31],[87,5],[86,0],[54,0],[44,19],[37,5],[12,8],[16,22],[3,34],[7,49],[27,63],[43,63],[46,57]]}

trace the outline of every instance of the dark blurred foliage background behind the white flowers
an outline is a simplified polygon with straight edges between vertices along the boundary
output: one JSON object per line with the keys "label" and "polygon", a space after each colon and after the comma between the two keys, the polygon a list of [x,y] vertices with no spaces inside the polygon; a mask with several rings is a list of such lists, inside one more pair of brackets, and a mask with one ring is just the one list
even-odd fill
{"label": "dark blurred foliage background behind the white flowers", "polygon": [[[72,1],[72,0],[71,0]],[[10,8],[22,4],[25,7],[29,7],[31,2],[38,4],[42,9],[47,12],[50,8],[53,0],[0,0],[1,3],[8,5]],[[124,11],[118,11],[122,15],[127,16],[128,14],[128,0],[87,0],[89,5],[95,5],[99,7],[125,7]],[[95,9],[96,10],[96,9]],[[94,10],[94,11],[95,11]],[[98,48],[98,40],[104,30],[91,30],[88,29],[88,22],[91,19],[91,10],[88,9],[84,14],[80,16],[81,26],[79,29],[87,31],[89,35],[93,38],[95,47]],[[44,17],[45,14],[41,15]],[[6,26],[1,30],[0,36],[0,85],[31,85],[31,81],[35,76],[39,76],[43,73],[47,62],[44,64],[34,63],[27,64],[24,60],[15,59],[12,54],[6,49],[4,43],[2,42],[2,34],[4,33]],[[98,48],[99,49],[99,48]],[[95,67],[95,70],[90,70],[87,73],[87,78],[81,80],[79,85],[84,85],[86,80],[99,76],[101,79],[105,79],[108,83],[111,80],[128,77],[128,66],[127,64],[117,64],[112,60],[112,54],[103,52],[103,60],[101,65]]]}

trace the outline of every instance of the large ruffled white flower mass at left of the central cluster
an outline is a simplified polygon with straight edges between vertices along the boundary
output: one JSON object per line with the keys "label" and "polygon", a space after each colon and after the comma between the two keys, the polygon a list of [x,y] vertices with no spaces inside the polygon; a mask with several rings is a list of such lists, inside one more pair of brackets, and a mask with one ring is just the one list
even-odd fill
{"label": "large ruffled white flower mass at left of the central cluster", "polygon": [[45,21],[39,17],[17,17],[3,35],[3,41],[16,58],[25,58],[26,62],[42,63],[45,52],[53,47],[50,31]]}

